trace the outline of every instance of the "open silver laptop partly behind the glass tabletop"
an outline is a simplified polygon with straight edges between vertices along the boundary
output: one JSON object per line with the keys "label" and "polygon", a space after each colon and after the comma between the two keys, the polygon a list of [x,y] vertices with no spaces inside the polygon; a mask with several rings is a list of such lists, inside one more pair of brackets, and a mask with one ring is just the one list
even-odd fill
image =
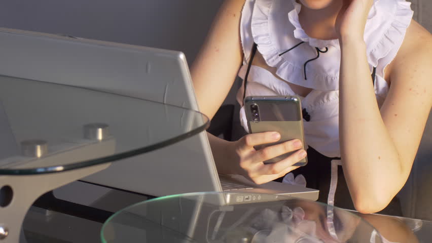
{"label": "open silver laptop partly behind the glass tabletop", "polygon": [[[5,28],[0,28],[0,52],[2,75],[199,110],[182,52]],[[110,107],[104,108],[109,111]],[[251,193],[318,197],[318,190],[301,186],[278,182],[256,185],[241,176],[218,175],[205,132],[116,161],[83,181],[153,196],[235,191],[243,198],[236,203],[249,203]]]}

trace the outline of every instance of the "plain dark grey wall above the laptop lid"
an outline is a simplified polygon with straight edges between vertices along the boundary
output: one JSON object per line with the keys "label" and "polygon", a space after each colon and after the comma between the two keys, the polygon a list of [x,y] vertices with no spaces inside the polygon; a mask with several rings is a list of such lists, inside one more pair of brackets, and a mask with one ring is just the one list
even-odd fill
{"label": "plain dark grey wall above the laptop lid", "polygon": [[0,27],[179,50],[191,64],[222,2],[2,1]]}

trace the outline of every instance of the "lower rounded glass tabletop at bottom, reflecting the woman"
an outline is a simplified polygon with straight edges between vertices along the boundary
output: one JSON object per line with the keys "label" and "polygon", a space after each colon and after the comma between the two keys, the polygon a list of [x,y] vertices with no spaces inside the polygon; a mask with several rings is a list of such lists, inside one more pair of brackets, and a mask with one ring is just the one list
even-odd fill
{"label": "lower rounded glass tabletop at bottom, reflecting the woman", "polygon": [[348,211],[289,196],[238,192],[144,201],[108,219],[101,239],[104,243],[382,242],[371,224]]}

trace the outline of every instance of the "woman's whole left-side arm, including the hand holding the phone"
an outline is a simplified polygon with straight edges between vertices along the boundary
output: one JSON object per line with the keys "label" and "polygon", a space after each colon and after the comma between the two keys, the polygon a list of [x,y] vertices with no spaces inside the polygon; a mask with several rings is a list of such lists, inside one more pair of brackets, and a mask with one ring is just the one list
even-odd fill
{"label": "woman's whole left-side arm, including the hand holding the phone", "polygon": [[[210,119],[221,106],[235,80],[242,63],[240,17],[245,0],[225,0],[216,16],[206,42],[191,67],[198,106]],[[272,165],[263,161],[301,147],[298,140],[255,150],[254,146],[280,139],[272,132],[250,134],[235,142],[228,142],[208,134],[213,158],[221,174],[239,174],[261,184],[294,170],[304,158],[297,153]]]}

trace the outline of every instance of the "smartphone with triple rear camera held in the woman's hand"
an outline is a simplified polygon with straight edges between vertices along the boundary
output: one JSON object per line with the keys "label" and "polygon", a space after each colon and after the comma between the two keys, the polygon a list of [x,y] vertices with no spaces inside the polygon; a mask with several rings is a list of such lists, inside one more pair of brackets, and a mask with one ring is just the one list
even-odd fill
{"label": "smartphone with triple rear camera held in the woman's hand", "polygon": [[[278,132],[280,140],[275,143],[255,146],[262,149],[285,141],[299,139],[304,149],[303,115],[300,98],[297,96],[247,96],[244,98],[249,133]],[[297,150],[296,150],[297,151]],[[296,151],[282,154],[264,163],[276,163]],[[307,157],[294,166],[305,166]]]}

